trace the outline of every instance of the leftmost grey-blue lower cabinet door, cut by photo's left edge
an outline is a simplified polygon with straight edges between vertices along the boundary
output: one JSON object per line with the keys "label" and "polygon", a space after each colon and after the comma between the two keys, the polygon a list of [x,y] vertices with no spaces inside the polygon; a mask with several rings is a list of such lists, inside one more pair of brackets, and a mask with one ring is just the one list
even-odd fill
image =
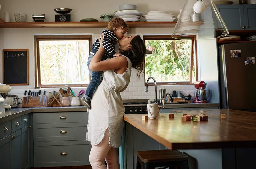
{"label": "leftmost grey-blue lower cabinet door, cut by photo's left edge", "polygon": [[10,169],[11,168],[11,135],[4,137],[0,140],[0,166],[1,169]]}

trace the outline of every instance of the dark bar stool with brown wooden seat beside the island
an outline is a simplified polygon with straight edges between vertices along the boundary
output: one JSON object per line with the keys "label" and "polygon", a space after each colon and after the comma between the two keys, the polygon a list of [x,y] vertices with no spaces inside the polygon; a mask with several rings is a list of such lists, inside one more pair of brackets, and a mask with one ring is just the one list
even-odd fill
{"label": "dark bar stool with brown wooden seat beside the island", "polygon": [[137,152],[136,169],[154,169],[155,167],[170,169],[188,169],[188,156],[178,150],[150,150]]}

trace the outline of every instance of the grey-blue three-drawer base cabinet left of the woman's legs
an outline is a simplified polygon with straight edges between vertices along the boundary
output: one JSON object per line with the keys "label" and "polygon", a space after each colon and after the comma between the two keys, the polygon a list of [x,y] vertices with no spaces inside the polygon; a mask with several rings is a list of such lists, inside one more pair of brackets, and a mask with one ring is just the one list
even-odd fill
{"label": "grey-blue three-drawer base cabinet left of the woman's legs", "polygon": [[90,165],[87,112],[33,113],[34,167]]}

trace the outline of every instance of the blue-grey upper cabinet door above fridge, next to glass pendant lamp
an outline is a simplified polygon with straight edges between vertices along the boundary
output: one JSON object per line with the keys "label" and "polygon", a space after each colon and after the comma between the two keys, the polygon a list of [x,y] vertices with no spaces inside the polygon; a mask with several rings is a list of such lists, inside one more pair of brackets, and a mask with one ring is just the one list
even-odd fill
{"label": "blue-grey upper cabinet door above fridge, next to glass pendant lamp", "polygon": [[244,30],[243,5],[217,5],[228,30]]}

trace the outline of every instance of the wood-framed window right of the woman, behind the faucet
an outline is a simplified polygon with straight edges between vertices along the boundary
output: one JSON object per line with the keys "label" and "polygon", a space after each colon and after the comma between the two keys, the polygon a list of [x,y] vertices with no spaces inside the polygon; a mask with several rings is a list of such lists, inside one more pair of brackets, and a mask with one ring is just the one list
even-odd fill
{"label": "wood-framed window right of the woman, behind the faucet", "polygon": [[196,40],[144,36],[144,41],[152,53],[145,57],[146,80],[152,76],[157,85],[189,85],[197,80]]}

